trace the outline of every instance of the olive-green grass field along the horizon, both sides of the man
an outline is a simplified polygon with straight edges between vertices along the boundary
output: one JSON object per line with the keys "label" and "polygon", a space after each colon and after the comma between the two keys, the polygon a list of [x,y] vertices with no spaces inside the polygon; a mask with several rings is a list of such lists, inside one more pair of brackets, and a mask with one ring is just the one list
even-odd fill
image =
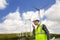
{"label": "olive-green grass field along the horizon, both sides of the man", "polygon": [[[29,40],[33,39],[33,36],[30,36],[30,32],[27,33],[18,33],[18,34],[0,34],[0,40],[17,40],[22,36],[26,36]],[[60,38],[60,34],[50,34],[51,38]]]}

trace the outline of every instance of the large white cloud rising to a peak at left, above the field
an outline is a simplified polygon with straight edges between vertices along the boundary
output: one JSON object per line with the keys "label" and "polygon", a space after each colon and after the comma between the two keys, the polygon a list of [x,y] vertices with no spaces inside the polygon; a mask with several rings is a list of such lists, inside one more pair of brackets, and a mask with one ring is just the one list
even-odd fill
{"label": "large white cloud rising to a peak at left, above the field", "polygon": [[[3,19],[4,22],[0,23],[0,30],[4,29],[2,32],[9,33],[9,32],[15,32],[23,26],[23,21],[21,20],[19,10],[17,9],[14,13],[9,13],[6,17]],[[1,31],[0,31],[1,32]]]}

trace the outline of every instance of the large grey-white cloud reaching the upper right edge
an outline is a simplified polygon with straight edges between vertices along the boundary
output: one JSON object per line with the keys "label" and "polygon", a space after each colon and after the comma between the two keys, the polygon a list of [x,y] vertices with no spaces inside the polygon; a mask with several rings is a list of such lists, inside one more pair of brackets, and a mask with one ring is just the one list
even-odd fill
{"label": "large grey-white cloud reaching the upper right edge", "polygon": [[46,11],[46,15],[49,16],[48,19],[52,21],[60,21],[60,1],[56,1],[57,2]]}

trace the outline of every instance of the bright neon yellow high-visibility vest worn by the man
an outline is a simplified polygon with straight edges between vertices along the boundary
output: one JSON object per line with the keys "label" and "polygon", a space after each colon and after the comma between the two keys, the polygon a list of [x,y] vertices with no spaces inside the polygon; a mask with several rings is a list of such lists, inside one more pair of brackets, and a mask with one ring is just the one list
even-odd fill
{"label": "bright neon yellow high-visibility vest worn by the man", "polygon": [[35,40],[47,40],[47,35],[42,29],[42,24],[39,24],[38,27],[35,29]]}

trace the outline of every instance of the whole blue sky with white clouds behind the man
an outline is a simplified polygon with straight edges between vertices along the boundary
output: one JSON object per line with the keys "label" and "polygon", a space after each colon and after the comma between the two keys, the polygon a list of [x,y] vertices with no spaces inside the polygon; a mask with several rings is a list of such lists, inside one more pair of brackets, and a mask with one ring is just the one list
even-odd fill
{"label": "whole blue sky with white clouds behind the man", "polygon": [[41,21],[50,33],[60,34],[59,0],[0,0],[0,33],[32,31],[32,20],[38,18],[35,8],[41,9]]}

